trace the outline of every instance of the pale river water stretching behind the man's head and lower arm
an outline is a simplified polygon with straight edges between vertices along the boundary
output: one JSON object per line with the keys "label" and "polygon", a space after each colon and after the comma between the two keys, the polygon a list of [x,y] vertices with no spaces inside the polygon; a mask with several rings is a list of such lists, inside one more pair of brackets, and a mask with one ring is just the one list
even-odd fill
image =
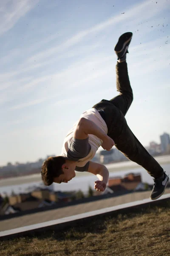
{"label": "pale river water stretching behind the man's head and lower arm", "polygon": [[[170,175],[170,156],[168,157],[159,157],[157,160],[161,163],[164,171]],[[169,163],[167,163],[169,162]],[[127,173],[140,173],[142,176],[142,182],[147,182],[153,184],[153,178],[139,165],[133,162],[123,162],[123,163],[114,163],[108,164],[107,168],[109,169],[109,177],[124,177]],[[94,187],[94,181],[98,180],[95,175],[90,173],[81,173],[77,172],[76,177],[69,181],[69,183],[53,183],[52,188],[54,191],[73,191],[81,189],[83,192],[88,191],[88,186]],[[17,184],[16,184],[17,183]],[[6,186],[8,184],[8,186]],[[14,185],[15,184],[15,185]],[[4,186],[5,185],[5,186]],[[14,193],[24,193],[32,191],[37,186],[44,187],[40,178],[40,175],[31,175],[27,177],[15,177],[7,180],[0,180],[0,194],[10,195],[12,191]],[[51,189],[52,189],[51,188]]]}

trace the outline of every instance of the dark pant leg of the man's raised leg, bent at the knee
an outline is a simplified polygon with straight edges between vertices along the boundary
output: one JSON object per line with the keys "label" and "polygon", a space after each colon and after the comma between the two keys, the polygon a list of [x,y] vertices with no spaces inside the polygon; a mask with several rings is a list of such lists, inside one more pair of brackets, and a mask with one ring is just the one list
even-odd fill
{"label": "dark pant leg of the man's raised leg, bent at the knee", "polygon": [[133,101],[133,91],[130,86],[127,62],[117,62],[116,64],[116,88],[119,95],[110,101],[122,111],[123,115],[127,113]]}

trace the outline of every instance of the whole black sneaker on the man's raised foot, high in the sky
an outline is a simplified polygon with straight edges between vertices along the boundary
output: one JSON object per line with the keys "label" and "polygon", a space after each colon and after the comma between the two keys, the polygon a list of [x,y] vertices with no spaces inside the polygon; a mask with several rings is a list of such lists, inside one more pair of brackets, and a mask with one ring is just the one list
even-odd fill
{"label": "whole black sneaker on the man's raised foot, high in the sky", "polygon": [[132,39],[132,35],[133,35],[132,32],[127,32],[119,37],[119,40],[114,48],[114,51],[116,52],[118,60],[123,58],[124,55],[128,53],[127,49]]}

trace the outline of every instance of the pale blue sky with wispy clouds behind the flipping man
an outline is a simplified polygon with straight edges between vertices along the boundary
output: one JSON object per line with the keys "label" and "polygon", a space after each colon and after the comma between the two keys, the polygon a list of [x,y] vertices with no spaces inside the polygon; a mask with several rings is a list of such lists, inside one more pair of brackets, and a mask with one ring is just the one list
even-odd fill
{"label": "pale blue sky with wispy clouds behind the flipping man", "polygon": [[59,155],[87,109],[116,96],[119,36],[133,32],[126,120],[139,141],[170,134],[170,0],[0,1],[0,166]]}

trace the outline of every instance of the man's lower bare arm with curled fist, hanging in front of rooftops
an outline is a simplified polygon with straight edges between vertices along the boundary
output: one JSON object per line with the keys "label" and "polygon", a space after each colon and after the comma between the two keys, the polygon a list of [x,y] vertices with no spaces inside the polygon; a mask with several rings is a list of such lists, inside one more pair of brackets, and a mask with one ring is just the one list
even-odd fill
{"label": "man's lower bare arm with curled fist, hanging in front of rooftops", "polygon": [[94,189],[96,189],[97,191],[105,191],[109,178],[108,169],[102,164],[90,161],[88,166],[88,172],[93,173],[99,178],[99,180],[96,180],[94,182]]}

